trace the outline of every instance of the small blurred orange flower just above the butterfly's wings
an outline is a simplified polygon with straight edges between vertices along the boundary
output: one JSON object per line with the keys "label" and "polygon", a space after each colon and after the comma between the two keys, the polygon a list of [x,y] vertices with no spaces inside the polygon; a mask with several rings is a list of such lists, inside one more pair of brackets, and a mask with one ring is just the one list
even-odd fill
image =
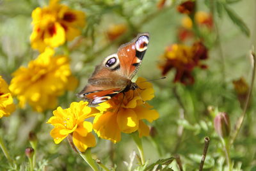
{"label": "small blurred orange flower just above the butterfly's wings", "polygon": [[116,24],[108,27],[107,36],[108,39],[113,41],[127,31],[125,24]]}

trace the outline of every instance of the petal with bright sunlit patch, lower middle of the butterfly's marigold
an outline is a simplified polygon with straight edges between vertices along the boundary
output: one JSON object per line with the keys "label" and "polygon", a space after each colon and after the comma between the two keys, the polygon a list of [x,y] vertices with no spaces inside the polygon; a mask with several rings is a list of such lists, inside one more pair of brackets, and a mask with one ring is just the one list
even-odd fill
{"label": "petal with bright sunlit patch, lower middle of the butterfly's marigold", "polygon": [[136,113],[129,108],[120,108],[117,115],[117,123],[120,130],[124,133],[132,133],[138,130],[138,117]]}

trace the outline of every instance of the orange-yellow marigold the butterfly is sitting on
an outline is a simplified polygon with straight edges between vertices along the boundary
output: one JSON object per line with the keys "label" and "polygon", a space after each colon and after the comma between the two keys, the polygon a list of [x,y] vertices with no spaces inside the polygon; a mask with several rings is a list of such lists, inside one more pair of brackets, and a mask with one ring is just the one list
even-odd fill
{"label": "orange-yellow marigold the butterfly is sitting on", "polygon": [[144,78],[138,78],[136,84],[140,89],[130,90],[111,98],[97,107],[103,113],[95,116],[93,130],[100,138],[116,143],[121,140],[121,132],[139,132],[140,137],[149,135],[149,128],[143,119],[152,122],[159,117],[156,110],[144,101],[154,98],[152,84]]}

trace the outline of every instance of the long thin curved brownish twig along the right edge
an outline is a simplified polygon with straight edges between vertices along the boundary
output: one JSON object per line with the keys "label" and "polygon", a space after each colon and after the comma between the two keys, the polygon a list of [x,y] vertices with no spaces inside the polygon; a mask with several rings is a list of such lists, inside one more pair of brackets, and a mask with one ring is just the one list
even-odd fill
{"label": "long thin curved brownish twig along the right edge", "polygon": [[253,69],[252,69],[252,80],[251,80],[251,84],[250,84],[250,89],[249,89],[249,93],[246,96],[246,101],[245,101],[245,105],[244,105],[244,108],[243,108],[243,114],[241,115],[241,117],[239,117],[239,119],[236,122],[236,128],[235,128],[235,131],[234,131],[234,134],[232,136],[230,144],[234,143],[234,141],[236,140],[236,137],[237,137],[239,131],[241,130],[241,126],[242,126],[243,121],[244,121],[246,110],[248,108],[248,103],[249,103],[250,98],[252,96],[252,89],[253,89],[253,84],[254,84],[254,80],[255,80],[255,71],[256,71],[256,69],[255,69],[256,57],[255,57],[255,53],[253,52],[253,50],[251,52],[251,57],[252,57]]}

